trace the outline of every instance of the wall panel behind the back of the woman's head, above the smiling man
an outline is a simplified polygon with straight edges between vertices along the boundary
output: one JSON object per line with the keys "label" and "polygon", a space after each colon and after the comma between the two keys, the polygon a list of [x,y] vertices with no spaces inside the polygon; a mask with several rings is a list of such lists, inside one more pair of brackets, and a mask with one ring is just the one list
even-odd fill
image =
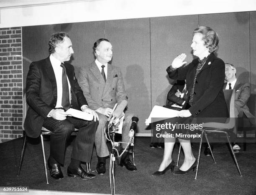
{"label": "wall panel behind the back of the woman's head, above the smiling man", "polygon": [[199,24],[218,33],[218,57],[236,67],[238,80],[250,82],[249,13],[199,15]]}

